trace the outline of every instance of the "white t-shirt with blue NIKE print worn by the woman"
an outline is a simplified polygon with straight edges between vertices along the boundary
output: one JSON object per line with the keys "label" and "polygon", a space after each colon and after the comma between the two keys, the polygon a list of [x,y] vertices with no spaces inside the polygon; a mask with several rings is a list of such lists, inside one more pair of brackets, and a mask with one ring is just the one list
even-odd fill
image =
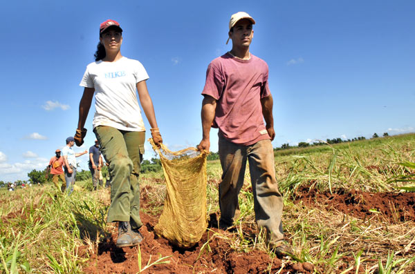
{"label": "white t-shirt with blue NIKE print worn by the woman", "polygon": [[145,131],[136,84],[149,79],[144,66],[122,57],[114,62],[95,61],[86,66],[80,86],[95,88],[93,128],[111,126],[120,130]]}

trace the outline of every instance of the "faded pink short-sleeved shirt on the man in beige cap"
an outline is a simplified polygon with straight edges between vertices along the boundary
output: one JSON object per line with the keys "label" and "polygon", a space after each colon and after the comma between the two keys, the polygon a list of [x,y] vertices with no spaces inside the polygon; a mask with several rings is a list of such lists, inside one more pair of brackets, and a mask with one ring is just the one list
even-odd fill
{"label": "faded pink short-sleeved shirt on the man in beige cap", "polygon": [[225,139],[243,146],[270,139],[260,101],[271,95],[264,60],[252,54],[249,60],[238,59],[229,52],[214,59],[202,95],[217,100],[212,126]]}

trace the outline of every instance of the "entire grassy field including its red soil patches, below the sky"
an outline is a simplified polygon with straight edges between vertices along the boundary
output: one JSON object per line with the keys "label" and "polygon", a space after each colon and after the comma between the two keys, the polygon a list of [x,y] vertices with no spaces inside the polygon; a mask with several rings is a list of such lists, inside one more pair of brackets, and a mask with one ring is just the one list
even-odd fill
{"label": "entire grassy field including its red soil patches, below the sky", "polygon": [[[112,261],[105,263],[106,267],[118,266],[109,268],[112,270],[100,268],[106,254],[100,247],[116,231],[113,224],[106,223],[109,190],[88,191],[86,186],[91,182],[77,182],[69,197],[60,195],[51,184],[10,193],[0,190],[0,271],[168,273],[163,269],[170,268],[163,267],[177,264],[174,260],[181,253],[188,257],[197,253],[192,265],[181,266],[181,273],[242,273],[232,264],[221,268],[214,260],[201,262],[206,258],[203,256],[214,257],[216,240],[228,246],[223,251],[227,256],[221,257],[224,261],[232,260],[234,254],[267,258],[266,268],[250,273],[414,273],[415,197],[408,191],[413,191],[414,162],[414,134],[277,150],[275,169],[284,193],[284,231],[295,250],[292,256],[277,258],[267,251],[264,233],[255,225],[250,176],[246,173],[236,231],[209,229],[198,248],[185,253],[169,247],[171,254],[160,252],[159,261],[157,253],[149,257],[151,248],[146,249],[146,244],[120,251],[127,259],[131,253],[133,258],[144,258],[142,263],[136,259],[118,262],[114,259],[118,251],[112,250]],[[219,214],[220,178],[219,161],[208,162],[210,216]],[[152,222],[163,211],[163,173],[142,175],[140,187],[146,198],[142,213],[150,220],[144,232],[151,233]],[[157,237],[154,240],[163,242]],[[250,257],[252,264],[255,256]],[[138,268],[119,268],[127,262]]]}

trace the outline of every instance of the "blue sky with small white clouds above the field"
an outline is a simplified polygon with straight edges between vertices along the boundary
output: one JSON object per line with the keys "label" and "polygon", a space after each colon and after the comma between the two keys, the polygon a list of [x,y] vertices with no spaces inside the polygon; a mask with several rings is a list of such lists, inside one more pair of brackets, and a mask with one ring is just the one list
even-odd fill
{"label": "blue sky with small white clouds above the field", "polygon": [[[106,19],[124,30],[122,55],[149,73],[165,144],[199,144],[206,68],[232,48],[228,21],[238,11],[257,21],[250,52],[270,68],[273,146],[415,131],[414,1],[7,1],[0,11],[0,180],[45,168],[75,133],[79,83]],[[76,152],[93,145],[94,111]],[[148,142],[145,148],[145,158],[154,157]],[[86,169],[88,157],[77,159]]]}

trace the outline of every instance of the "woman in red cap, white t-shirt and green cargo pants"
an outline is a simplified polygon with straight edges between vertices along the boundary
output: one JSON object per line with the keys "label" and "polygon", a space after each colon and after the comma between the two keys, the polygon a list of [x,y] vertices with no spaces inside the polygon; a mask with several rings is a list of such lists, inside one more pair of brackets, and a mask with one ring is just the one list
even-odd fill
{"label": "woman in red cap, white t-shirt and green cargo pants", "polygon": [[117,246],[136,246],[142,241],[138,175],[144,154],[145,126],[140,104],[151,126],[151,136],[160,144],[154,107],[145,81],[149,78],[139,61],[122,57],[122,28],[113,20],[100,24],[100,43],[95,62],[86,67],[80,86],[80,117],[75,134],[77,146],[84,142],[84,124],[95,93],[93,132],[111,173],[111,206],[107,222],[118,222]]}

